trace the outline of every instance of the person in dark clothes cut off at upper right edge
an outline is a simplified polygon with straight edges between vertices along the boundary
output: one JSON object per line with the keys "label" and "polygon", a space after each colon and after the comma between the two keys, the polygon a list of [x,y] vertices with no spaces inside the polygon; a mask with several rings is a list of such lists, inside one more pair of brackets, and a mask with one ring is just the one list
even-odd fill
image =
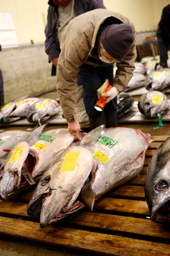
{"label": "person in dark clothes cut off at upper right edge", "polygon": [[160,52],[160,66],[167,68],[168,47],[170,46],[170,4],[162,11],[161,20],[157,30],[157,39]]}

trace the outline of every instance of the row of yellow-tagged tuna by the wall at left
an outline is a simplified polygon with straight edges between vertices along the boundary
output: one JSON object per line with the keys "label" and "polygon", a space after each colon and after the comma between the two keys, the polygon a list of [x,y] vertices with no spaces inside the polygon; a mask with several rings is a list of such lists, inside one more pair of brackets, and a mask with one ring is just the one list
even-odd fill
{"label": "row of yellow-tagged tuna by the wall at left", "polygon": [[0,110],[0,124],[7,124],[21,118],[27,119],[30,123],[45,123],[47,119],[59,111],[59,104],[53,99],[24,98],[9,102]]}

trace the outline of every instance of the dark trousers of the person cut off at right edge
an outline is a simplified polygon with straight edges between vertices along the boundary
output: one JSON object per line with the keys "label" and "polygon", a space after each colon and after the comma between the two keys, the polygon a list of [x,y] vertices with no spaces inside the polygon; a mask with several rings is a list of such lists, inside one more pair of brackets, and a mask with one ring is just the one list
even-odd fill
{"label": "dark trousers of the person cut off at right edge", "polygon": [[158,46],[160,53],[160,62],[166,62],[168,59],[168,46],[170,45],[170,35],[162,33],[160,28],[157,30]]}

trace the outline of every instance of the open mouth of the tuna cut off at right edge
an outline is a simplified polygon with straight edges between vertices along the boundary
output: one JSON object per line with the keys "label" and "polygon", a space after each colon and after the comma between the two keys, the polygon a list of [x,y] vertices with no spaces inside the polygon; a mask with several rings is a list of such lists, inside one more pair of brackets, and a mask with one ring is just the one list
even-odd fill
{"label": "open mouth of the tuna cut off at right edge", "polygon": [[151,219],[156,223],[170,223],[170,198],[154,211]]}

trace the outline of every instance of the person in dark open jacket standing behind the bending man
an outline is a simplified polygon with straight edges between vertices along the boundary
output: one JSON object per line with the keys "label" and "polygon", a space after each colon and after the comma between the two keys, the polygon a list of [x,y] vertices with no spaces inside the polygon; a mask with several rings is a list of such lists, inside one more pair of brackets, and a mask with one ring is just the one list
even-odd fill
{"label": "person in dark open jacket standing behind the bending man", "polygon": [[[70,20],[76,16],[97,8],[106,8],[103,0],[49,0],[47,25],[45,28],[45,52],[49,63],[52,62],[51,75],[56,75],[60,54],[61,34]],[[82,86],[76,86],[78,120],[83,131],[90,131],[89,119],[82,99]]]}

